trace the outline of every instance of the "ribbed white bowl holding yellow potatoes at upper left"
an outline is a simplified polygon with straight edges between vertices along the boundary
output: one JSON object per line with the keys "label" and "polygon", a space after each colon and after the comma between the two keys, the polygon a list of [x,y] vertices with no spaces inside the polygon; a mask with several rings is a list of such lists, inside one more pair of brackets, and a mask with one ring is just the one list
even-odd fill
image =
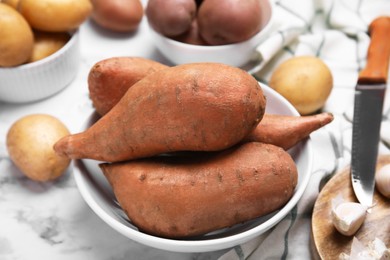
{"label": "ribbed white bowl holding yellow potatoes at upper left", "polygon": [[36,62],[0,68],[0,101],[25,103],[47,98],[74,79],[80,62],[79,32],[57,52]]}

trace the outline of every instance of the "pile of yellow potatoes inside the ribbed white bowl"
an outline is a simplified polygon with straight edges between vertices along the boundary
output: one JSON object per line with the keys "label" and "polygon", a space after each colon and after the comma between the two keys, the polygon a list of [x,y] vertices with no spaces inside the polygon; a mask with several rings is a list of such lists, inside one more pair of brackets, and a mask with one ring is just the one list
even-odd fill
{"label": "pile of yellow potatoes inside the ribbed white bowl", "polygon": [[0,67],[31,63],[61,49],[91,11],[89,0],[0,1]]}

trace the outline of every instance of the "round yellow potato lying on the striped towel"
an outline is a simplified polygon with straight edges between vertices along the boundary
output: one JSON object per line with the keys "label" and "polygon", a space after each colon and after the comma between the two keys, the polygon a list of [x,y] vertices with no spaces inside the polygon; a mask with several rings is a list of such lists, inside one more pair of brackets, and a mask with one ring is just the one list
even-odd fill
{"label": "round yellow potato lying on the striped towel", "polygon": [[321,109],[333,88],[327,65],[313,56],[297,56],[280,64],[269,86],[284,96],[301,115]]}

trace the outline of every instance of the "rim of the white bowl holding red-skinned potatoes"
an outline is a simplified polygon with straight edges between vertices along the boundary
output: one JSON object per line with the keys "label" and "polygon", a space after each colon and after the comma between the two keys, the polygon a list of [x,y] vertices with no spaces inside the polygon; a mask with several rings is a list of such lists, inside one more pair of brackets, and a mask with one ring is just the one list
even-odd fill
{"label": "rim of the white bowl holding red-skinned potatoes", "polygon": [[195,44],[189,44],[189,43],[184,43],[184,42],[174,40],[172,38],[164,36],[161,33],[155,31],[151,26],[149,26],[149,28],[150,28],[150,31],[153,34],[155,34],[157,37],[160,37],[162,40],[165,40],[166,42],[168,42],[174,46],[177,46],[177,47],[191,48],[191,49],[197,50],[197,51],[204,51],[204,50],[207,50],[207,51],[221,50],[222,51],[222,50],[234,48],[237,46],[244,46],[244,45],[247,45],[248,43],[251,43],[251,42],[257,42],[257,39],[261,39],[264,35],[268,34],[268,32],[273,27],[273,23],[275,20],[275,6],[274,6],[275,4],[274,4],[273,0],[268,0],[267,2],[270,4],[270,10],[271,10],[270,11],[271,15],[268,19],[267,24],[259,32],[257,32],[255,35],[253,35],[251,38],[249,38],[245,41],[242,41],[242,42],[223,44],[223,45],[195,45]]}

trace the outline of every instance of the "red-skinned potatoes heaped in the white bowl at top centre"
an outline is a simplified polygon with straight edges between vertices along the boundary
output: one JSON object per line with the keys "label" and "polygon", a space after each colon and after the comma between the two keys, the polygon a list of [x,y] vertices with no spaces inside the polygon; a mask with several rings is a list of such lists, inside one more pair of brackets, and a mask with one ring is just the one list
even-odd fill
{"label": "red-skinned potatoes heaped in the white bowl at top centre", "polygon": [[158,33],[185,43],[224,45],[248,40],[269,19],[268,0],[149,0],[146,16]]}

